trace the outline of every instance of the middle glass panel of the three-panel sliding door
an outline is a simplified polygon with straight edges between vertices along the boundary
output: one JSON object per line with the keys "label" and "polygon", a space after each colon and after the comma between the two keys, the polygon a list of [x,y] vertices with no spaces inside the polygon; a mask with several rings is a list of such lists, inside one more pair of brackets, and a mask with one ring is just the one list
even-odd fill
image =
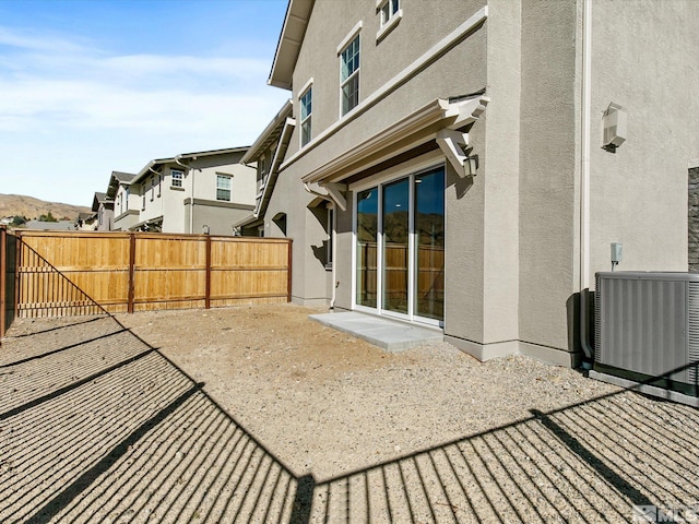
{"label": "middle glass panel of the three-panel sliding door", "polygon": [[383,300],[382,308],[408,312],[410,179],[383,187]]}

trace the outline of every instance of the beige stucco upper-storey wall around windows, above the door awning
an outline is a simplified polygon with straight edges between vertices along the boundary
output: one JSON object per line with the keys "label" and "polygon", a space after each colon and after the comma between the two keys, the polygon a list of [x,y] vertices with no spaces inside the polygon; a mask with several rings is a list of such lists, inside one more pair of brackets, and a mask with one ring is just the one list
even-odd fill
{"label": "beige stucco upper-storey wall around windows, above the door awning", "polygon": [[[300,56],[294,73],[294,88],[300,88],[313,79],[313,136],[318,136],[327,128],[335,124],[340,119],[340,62],[337,45],[359,20],[365,25],[360,29],[360,95],[359,103],[368,98],[375,91],[388,83],[395,74],[408,67],[415,58],[425,53],[431,45],[441,39],[447,31],[460,25],[472,16],[483,2],[439,2],[430,10],[435,19],[430,28],[434,33],[429,38],[422,36],[420,45],[414,41],[414,34],[410,24],[424,20],[423,13],[414,11],[415,5],[405,8],[405,14],[399,25],[388,34],[383,40],[376,44],[378,19],[376,3],[363,2],[317,2],[313,8],[309,27],[301,46]],[[350,8],[348,5],[352,5]],[[345,15],[333,14],[336,9],[352,9],[354,20],[350,23]],[[328,11],[328,12],[325,12]],[[327,20],[327,17],[330,19]],[[335,20],[336,19],[336,20]],[[408,19],[411,19],[408,21]],[[313,23],[320,20],[323,23]],[[441,25],[437,22],[441,21]],[[441,27],[441,28],[440,28]],[[424,29],[423,29],[424,31]],[[425,40],[424,44],[422,40]],[[394,46],[395,49],[410,49],[407,56],[393,51],[395,66],[382,69],[384,49]],[[404,85],[388,94],[381,102],[372,106],[358,118],[348,114],[348,123],[334,135],[323,142],[322,146],[308,147],[309,153],[303,156],[295,170],[308,172],[325,162],[340,155],[353,144],[370,136],[387,126],[395,122],[423,107],[436,98],[449,98],[483,90],[486,86],[485,72],[485,35],[482,29],[466,37],[452,47],[438,61],[412,76]],[[297,99],[298,93],[294,93]],[[295,108],[297,111],[298,108]],[[298,118],[298,115],[296,115]],[[292,136],[286,157],[292,157],[299,148],[298,127]]]}

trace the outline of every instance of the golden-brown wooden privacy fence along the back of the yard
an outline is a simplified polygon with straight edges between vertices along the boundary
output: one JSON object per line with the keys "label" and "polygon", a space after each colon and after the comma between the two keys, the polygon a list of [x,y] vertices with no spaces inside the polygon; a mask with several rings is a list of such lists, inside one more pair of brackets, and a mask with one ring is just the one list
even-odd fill
{"label": "golden-brown wooden privacy fence along the back of the yard", "polygon": [[17,231],[21,318],[291,300],[291,240]]}

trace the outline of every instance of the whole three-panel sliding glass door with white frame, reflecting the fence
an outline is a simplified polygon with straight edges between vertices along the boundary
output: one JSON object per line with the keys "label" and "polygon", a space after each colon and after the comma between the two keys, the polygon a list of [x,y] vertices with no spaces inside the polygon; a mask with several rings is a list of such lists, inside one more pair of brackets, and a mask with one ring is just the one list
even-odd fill
{"label": "whole three-panel sliding glass door with white frame, reflecting the fence", "polygon": [[356,194],[356,306],[440,323],[445,299],[443,167]]}

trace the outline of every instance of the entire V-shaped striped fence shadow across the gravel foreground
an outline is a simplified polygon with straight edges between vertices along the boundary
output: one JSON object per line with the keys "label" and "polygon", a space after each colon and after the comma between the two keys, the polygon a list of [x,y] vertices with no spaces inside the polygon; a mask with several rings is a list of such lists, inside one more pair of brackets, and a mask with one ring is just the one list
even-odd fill
{"label": "entire V-shaped striped fence shadow across the gravel foreground", "polygon": [[316,479],[108,314],[23,325],[0,355],[0,522],[592,523],[699,511],[699,412],[687,406],[625,391]]}

